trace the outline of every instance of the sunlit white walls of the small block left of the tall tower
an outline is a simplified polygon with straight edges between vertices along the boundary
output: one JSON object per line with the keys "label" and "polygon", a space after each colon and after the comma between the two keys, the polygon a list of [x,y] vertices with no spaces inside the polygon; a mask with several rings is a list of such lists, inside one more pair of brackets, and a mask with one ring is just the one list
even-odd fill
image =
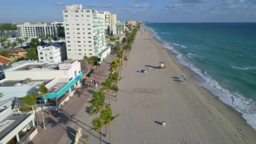
{"label": "sunlit white walls of the small block left of the tall tower", "polygon": [[61,62],[61,50],[55,46],[38,46],[37,53],[39,62]]}

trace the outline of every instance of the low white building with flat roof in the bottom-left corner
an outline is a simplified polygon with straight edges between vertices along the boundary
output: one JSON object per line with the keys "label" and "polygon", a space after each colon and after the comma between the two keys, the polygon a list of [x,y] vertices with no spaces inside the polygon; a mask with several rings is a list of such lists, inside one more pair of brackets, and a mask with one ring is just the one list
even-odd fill
{"label": "low white building with flat roof in the bottom-left corner", "polygon": [[28,144],[37,134],[34,113],[12,113],[0,109],[0,144]]}

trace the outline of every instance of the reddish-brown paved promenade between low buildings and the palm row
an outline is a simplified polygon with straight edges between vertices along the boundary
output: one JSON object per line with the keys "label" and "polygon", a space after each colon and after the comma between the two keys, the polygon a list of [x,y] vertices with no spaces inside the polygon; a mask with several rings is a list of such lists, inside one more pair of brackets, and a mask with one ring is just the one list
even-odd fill
{"label": "reddish-brown paved promenade between low buildings and the palm row", "polygon": [[[98,83],[98,89],[101,88],[101,83],[107,79],[107,75],[110,71],[112,61],[117,59],[110,55],[106,61],[104,61],[99,69],[95,70],[91,77],[83,84],[81,88],[78,88],[75,94],[67,101],[67,103],[61,107],[60,113],[55,110],[51,110],[50,114],[47,110],[44,112],[45,121],[48,121],[46,125],[46,130],[38,125],[37,135],[29,142],[29,144],[70,144],[75,141],[75,133],[77,128],[81,127],[83,129],[83,134],[85,132],[90,133],[91,127],[86,125],[83,121],[87,121],[88,101],[90,97],[95,93],[91,80],[95,80]],[[98,75],[99,72],[99,75]],[[37,112],[38,120],[42,120],[41,111]],[[93,131],[93,130],[92,130]],[[90,136],[89,136],[90,138]]]}

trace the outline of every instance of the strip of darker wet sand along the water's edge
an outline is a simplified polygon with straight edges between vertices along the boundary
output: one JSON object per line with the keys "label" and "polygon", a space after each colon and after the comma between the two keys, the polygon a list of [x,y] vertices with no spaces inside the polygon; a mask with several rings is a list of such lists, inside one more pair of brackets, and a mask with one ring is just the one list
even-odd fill
{"label": "strip of darker wet sand along the water's edge", "polygon": [[189,67],[181,64],[176,58],[176,56],[170,53],[168,51],[168,48],[166,48],[159,40],[157,40],[152,35],[152,32],[150,31],[149,27],[145,26],[144,24],[143,24],[143,27],[148,29],[150,33],[150,38],[152,39],[152,41],[157,43],[157,45],[160,45],[160,47],[158,46],[157,48],[161,51],[164,50],[164,53],[168,55],[168,57],[176,65],[176,67],[178,67],[178,69],[186,75],[187,79],[189,80],[189,84],[192,84],[193,86],[195,86],[195,88],[197,88],[197,90],[200,91],[200,93],[204,96],[204,98],[207,99],[207,101],[209,101],[211,105],[215,107],[223,117],[225,117],[230,123],[235,125],[237,130],[241,131],[245,135],[248,141],[253,142],[252,140],[254,139],[251,139],[251,138],[253,138],[253,136],[256,135],[256,130],[247,123],[245,118],[242,116],[243,114],[241,112],[238,112],[234,107],[229,106],[228,104],[225,104],[223,101],[219,99],[219,96],[214,95],[207,88],[200,86],[196,82],[194,75],[192,74],[193,71],[189,69]]}

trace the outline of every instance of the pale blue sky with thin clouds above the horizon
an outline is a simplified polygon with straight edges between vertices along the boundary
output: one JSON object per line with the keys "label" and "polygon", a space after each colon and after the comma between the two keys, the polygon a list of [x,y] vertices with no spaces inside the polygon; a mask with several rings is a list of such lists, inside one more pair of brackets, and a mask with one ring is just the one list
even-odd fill
{"label": "pale blue sky with thin clouds above the horizon", "polygon": [[0,23],[63,21],[62,10],[72,4],[120,21],[256,22],[256,0],[2,0]]}

